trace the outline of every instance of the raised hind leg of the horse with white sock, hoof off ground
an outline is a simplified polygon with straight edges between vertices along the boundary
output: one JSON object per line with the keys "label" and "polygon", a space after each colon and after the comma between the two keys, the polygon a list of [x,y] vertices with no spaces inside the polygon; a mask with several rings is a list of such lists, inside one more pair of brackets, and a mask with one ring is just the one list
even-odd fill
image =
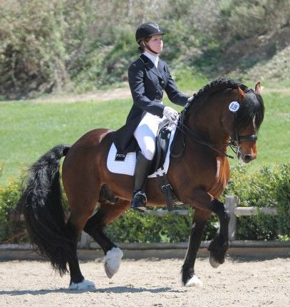
{"label": "raised hind leg of the horse with white sock, hoof off ground", "polygon": [[95,239],[101,248],[103,248],[105,253],[103,263],[108,278],[112,278],[113,275],[118,272],[123,252],[105,236],[103,228],[115,218],[118,218],[118,216],[124,213],[129,207],[130,202],[123,199],[118,199],[115,204],[110,203],[110,201],[103,201],[100,203],[98,211],[88,219],[83,229]]}

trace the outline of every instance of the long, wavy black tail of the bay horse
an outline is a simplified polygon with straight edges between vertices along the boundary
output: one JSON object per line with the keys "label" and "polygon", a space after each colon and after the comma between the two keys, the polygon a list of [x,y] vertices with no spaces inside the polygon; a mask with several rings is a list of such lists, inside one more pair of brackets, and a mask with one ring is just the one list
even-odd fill
{"label": "long, wavy black tail of the bay horse", "polygon": [[33,246],[61,276],[68,272],[72,238],[66,233],[62,206],[59,164],[69,146],[59,145],[41,156],[29,169],[20,205]]}

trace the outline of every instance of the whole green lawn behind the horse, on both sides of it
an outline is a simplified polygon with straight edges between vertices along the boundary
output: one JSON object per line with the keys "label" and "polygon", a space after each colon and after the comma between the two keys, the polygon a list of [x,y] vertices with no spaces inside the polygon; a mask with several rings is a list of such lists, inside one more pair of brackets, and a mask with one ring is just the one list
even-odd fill
{"label": "whole green lawn behind the horse, on both sides of it", "polygon": [[[289,162],[290,157],[290,94],[272,92],[263,97],[266,114],[259,132],[259,156],[249,164],[249,169],[263,163]],[[0,186],[18,177],[21,170],[57,144],[73,144],[86,131],[95,128],[118,129],[125,122],[131,104],[130,99],[71,104],[1,103],[0,168],[4,167]],[[169,104],[167,99],[165,104]]]}

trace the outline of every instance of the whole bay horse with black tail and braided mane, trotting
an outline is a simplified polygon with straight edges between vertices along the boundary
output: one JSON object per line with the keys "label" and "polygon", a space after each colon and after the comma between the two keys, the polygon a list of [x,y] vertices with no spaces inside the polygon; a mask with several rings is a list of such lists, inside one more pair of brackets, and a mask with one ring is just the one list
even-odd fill
{"label": "whole bay horse with black tail and braided mane, trotting", "polygon": [[[184,286],[201,284],[195,276],[195,258],[212,213],[217,215],[220,229],[209,244],[209,262],[213,267],[224,262],[229,213],[217,198],[229,181],[227,148],[234,145],[245,163],[257,157],[257,132],[264,119],[260,91],[259,83],[252,90],[232,79],[217,79],[200,89],[180,115],[167,178],[177,198],[195,209],[181,272]],[[29,170],[19,201],[31,242],[61,276],[70,272],[69,288],[75,290],[95,287],[83,277],[78,263],[81,231],[103,249],[109,278],[118,271],[123,256],[103,229],[130,207],[133,176],[108,171],[111,133],[109,129],[95,129],[72,146],[56,146],[41,156]],[[62,182],[71,209],[67,222],[59,178],[63,156]],[[165,206],[157,178],[149,178],[146,194],[149,206]]]}

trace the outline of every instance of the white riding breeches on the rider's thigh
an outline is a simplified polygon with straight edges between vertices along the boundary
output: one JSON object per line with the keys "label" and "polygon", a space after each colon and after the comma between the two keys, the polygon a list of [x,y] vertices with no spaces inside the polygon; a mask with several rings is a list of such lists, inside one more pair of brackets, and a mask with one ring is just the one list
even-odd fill
{"label": "white riding breeches on the rider's thigh", "polygon": [[141,152],[147,160],[152,160],[155,154],[155,139],[158,126],[164,119],[166,119],[165,116],[160,119],[159,116],[146,113],[134,132]]}

